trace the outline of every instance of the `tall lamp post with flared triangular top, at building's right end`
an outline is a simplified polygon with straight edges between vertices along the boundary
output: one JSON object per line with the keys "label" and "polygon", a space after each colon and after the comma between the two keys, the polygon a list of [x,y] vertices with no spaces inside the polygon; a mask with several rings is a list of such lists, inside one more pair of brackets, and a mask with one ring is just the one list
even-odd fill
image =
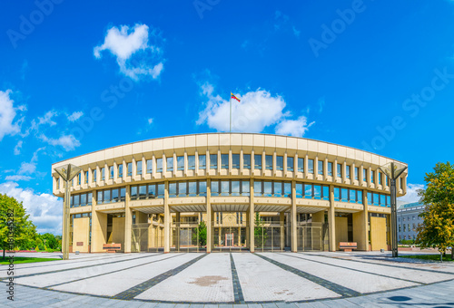
{"label": "tall lamp post with flared triangular top, at building's right end", "polygon": [[391,189],[391,251],[392,256],[398,256],[398,241],[397,241],[397,194],[396,194],[396,179],[407,169],[407,166],[399,162],[389,162],[379,167],[381,172],[390,178]]}

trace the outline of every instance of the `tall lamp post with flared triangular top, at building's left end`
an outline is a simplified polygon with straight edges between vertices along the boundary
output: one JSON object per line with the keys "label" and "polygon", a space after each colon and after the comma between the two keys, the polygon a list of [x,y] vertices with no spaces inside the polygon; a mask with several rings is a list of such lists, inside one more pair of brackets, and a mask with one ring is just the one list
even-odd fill
{"label": "tall lamp post with flared triangular top, at building's left end", "polygon": [[68,164],[64,167],[55,168],[55,172],[64,180],[64,200],[63,200],[63,232],[62,232],[62,252],[63,259],[69,259],[69,198],[71,191],[69,182],[82,171],[82,168]]}

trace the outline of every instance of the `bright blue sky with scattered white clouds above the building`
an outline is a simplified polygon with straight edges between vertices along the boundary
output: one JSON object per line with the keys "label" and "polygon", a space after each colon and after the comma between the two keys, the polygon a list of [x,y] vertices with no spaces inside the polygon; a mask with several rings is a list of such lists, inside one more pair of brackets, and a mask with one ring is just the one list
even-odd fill
{"label": "bright blue sky with scattered white clouds above the building", "polygon": [[226,131],[230,91],[242,99],[235,131],[407,162],[407,201],[452,157],[452,1],[1,6],[0,192],[23,200],[40,232],[61,232],[53,162]]}

